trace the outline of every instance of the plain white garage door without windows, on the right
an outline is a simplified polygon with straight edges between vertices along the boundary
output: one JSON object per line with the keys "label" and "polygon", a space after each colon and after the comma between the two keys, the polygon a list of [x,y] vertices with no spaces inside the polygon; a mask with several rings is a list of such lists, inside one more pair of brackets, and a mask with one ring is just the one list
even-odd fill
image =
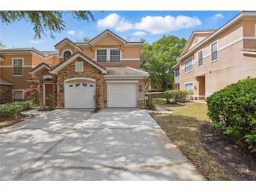
{"label": "plain white garage door without windows, on the right", "polygon": [[137,107],[137,83],[108,83],[108,107]]}

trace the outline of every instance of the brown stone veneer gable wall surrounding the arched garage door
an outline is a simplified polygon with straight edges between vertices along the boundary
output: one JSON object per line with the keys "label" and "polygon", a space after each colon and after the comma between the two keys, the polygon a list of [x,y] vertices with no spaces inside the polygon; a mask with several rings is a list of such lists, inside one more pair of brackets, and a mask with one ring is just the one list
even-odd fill
{"label": "brown stone veneer gable wall surrounding the arched garage door", "polygon": [[[83,62],[83,71],[76,72],[76,62]],[[64,97],[64,81],[67,78],[73,77],[86,77],[86,78],[93,78],[95,79],[95,107],[96,108],[103,108],[104,101],[103,101],[103,74],[102,72],[93,67],[93,65],[89,64],[88,62],[84,61],[82,58],[76,59],[74,62],[68,64],[66,67],[58,71],[57,74],[57,107],[64,108],[65,107],[65,97]]]}

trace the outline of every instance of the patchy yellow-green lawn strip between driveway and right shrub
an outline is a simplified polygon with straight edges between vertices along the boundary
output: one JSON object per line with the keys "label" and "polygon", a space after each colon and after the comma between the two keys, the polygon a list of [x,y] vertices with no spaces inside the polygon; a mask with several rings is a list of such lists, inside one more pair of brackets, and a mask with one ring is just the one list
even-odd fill
{"label": "patchy yellow-green lawn strip between driveway and right shrub", "polygon": [[151,114],[170,139],[208,180],[232,180],[225,168],[217,163],[201,146],[198,128],[210,123],[207,106],[203,103],[165,104],[164,99],[154,99],[160,107],[173,114]]}

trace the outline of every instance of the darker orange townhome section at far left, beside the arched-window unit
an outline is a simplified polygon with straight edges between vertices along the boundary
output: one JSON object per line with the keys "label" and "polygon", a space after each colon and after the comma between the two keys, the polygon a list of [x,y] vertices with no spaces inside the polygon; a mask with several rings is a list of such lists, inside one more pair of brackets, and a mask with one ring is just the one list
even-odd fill
{"label": "darker orange townhome section at far left, beside the arched-window unit", "polygon": [[35,48],[0,50],[0,103],[24,100],[29,85],[39,85],[39,79],[29,74],[41,62],[57,64],[56,51],[39,51]]}

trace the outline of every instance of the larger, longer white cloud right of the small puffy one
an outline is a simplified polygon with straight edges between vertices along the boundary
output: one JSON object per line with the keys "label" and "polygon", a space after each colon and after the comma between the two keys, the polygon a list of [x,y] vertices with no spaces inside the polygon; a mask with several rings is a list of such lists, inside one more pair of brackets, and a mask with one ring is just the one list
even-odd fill
{"label": "larger, longer white cloud right of the small puffy one", "polygon": [[177,31],[179,29],[187,29],[201,25],[201,20],[197,17],[188,17],[179,15],[176,18],[170,15],[162,16],[147,16],[142,18],[140,22],[134,24],[134,28],[145,30],[151,34],[163,34],[166,32]]}

